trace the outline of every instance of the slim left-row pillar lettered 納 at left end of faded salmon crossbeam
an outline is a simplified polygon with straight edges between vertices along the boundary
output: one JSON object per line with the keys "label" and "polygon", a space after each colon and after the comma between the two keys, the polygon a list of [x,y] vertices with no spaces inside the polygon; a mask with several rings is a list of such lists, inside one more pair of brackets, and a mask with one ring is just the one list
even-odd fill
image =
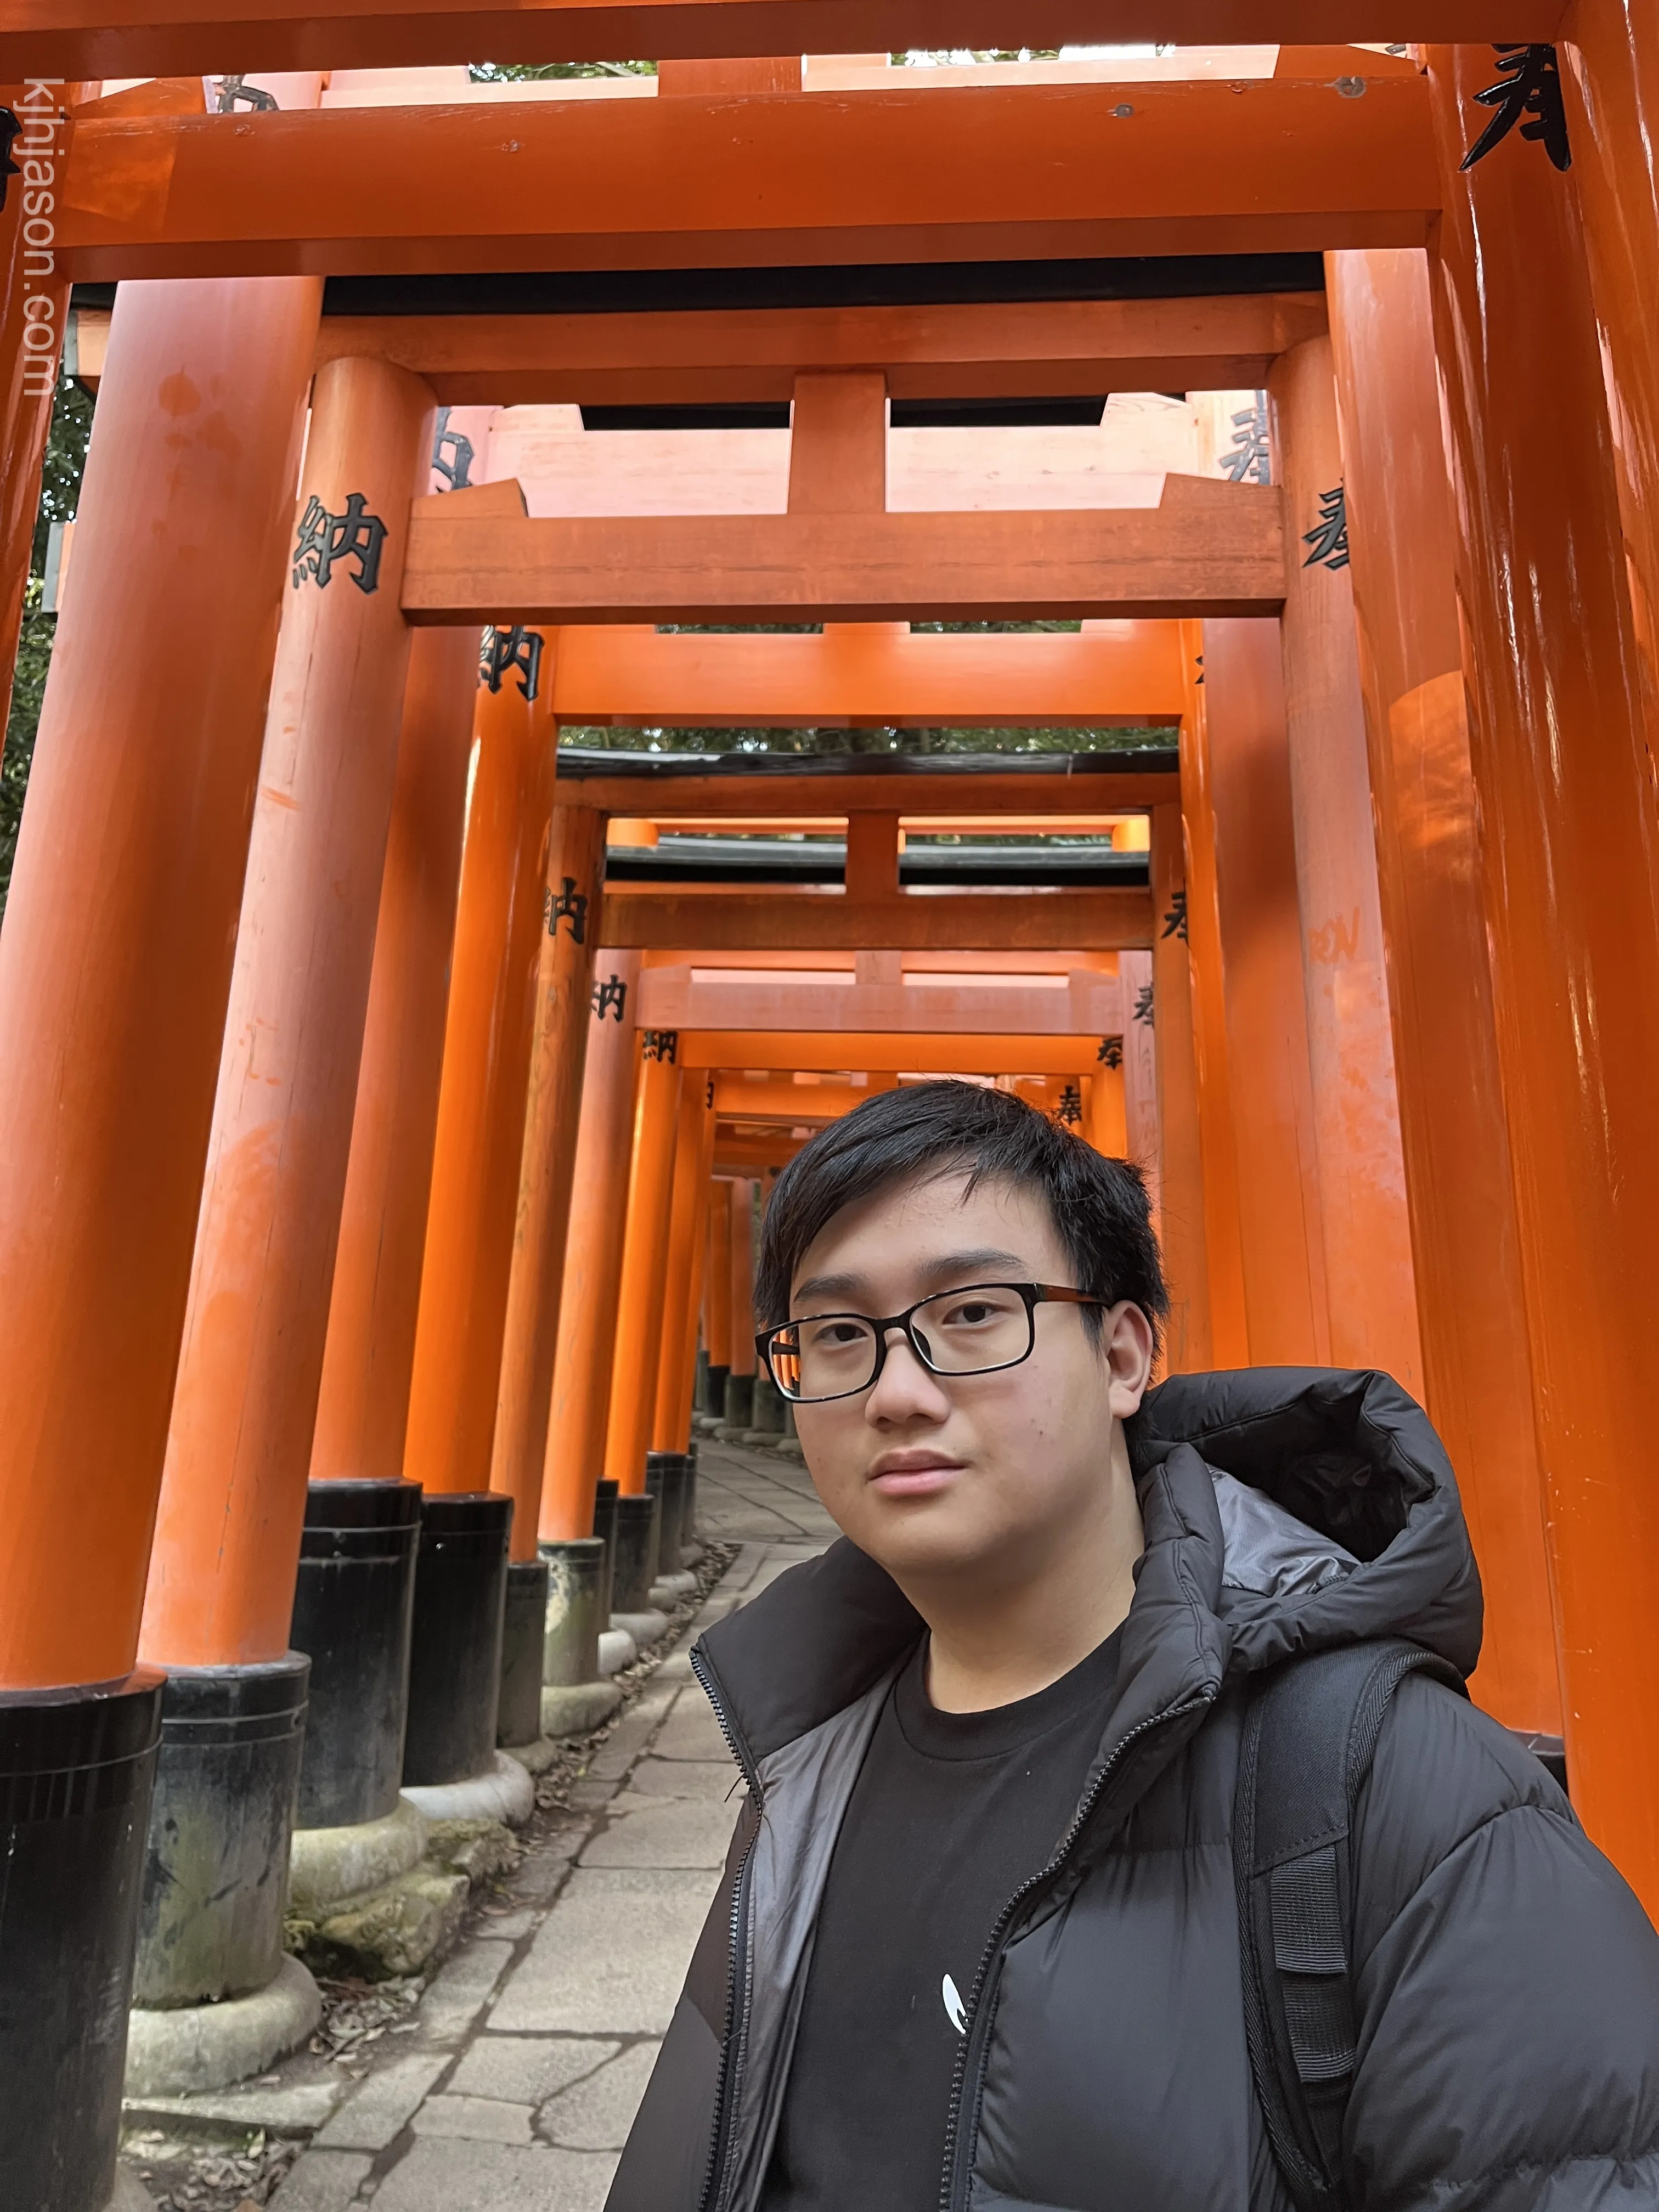
{"label": "slim left-row pillar lettered \u7d0d at left end of faded salmon crossbeam", "polygon": [[606,951],[593,984],[593,1031],[575,1137],[571,1232],[564,1241],[560,1340],[542,1471],[542,1540],[593,1535],[604,1475],[611,1363],[617,1349],[622,1241],[639,1093],[639,953]]}

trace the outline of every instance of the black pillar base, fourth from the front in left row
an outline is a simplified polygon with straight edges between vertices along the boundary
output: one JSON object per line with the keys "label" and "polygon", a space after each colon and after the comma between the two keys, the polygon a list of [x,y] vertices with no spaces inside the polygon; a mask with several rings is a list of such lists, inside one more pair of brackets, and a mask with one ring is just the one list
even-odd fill
{"label": "black pillar base, fourth from the front in left row", "polygon": [[465,1783],[495,1763],[507,1540],[500,1491],[431,1491],[420,1509],[405,1783]]}

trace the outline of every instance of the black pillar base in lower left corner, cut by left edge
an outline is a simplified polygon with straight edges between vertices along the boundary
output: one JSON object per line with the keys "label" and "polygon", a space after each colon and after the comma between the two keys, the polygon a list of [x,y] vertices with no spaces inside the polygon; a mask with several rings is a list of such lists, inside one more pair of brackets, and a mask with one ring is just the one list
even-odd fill
{"label": "black pillar base in lower left corner, cut by left edge", "polygon": [[122,2130],[157,1668],[0,1694],[0,2201],[104,2212]]}

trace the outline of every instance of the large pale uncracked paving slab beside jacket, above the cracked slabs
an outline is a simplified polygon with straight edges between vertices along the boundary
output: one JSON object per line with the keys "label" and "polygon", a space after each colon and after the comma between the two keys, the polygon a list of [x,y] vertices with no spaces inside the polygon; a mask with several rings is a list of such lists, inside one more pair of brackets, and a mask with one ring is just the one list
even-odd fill
{"label": "large pale uncracked paving slab beside jacket, above the cracked slabs", "polygon": [[661,2035],[717,1889],[712,1869],[577,1867],[495,2000],[491,2028]]}

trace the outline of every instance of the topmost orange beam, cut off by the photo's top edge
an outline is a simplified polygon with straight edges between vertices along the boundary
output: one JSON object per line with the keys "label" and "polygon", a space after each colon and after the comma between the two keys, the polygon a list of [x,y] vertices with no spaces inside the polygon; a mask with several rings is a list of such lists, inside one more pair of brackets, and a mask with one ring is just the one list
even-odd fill
{"label": "topmost orange beam, cut off by the photo's top edge", "polygon": [[[962,46],[1113,40],[1548,40],[1562,0],[956,0]],[[872,53],[940,40],[936,0],[4,0],[9,77],[195,75],[226,69],[396,69],[436,62],[604,62],[628,55]]]}

